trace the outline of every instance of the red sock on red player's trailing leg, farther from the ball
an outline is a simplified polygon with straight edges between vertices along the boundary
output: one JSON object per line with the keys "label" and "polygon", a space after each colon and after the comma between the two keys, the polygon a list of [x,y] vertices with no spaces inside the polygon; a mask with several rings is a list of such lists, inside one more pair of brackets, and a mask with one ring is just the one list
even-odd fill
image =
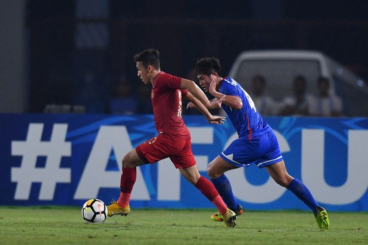
{"label": "red sock on red player's trailing leg, farther from the ball", "polygon": [[210,180],[201,176],[195,184],[195,187],[217,207],[221,215],[225,214],[227,206]]}

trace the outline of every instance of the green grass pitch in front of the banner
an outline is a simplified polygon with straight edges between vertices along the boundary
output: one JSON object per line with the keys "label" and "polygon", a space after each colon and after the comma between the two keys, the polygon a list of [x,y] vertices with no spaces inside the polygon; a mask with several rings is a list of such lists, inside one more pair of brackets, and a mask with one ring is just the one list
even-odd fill
{"label": "green grass pitch in front of the banner", "polygon": [[132,208],[98,224],[79,207],[0,206],[0,244],[368,244],[368,212],[329,212],[329,230],[311,212],[244,210],[234,228],[213,212]]}

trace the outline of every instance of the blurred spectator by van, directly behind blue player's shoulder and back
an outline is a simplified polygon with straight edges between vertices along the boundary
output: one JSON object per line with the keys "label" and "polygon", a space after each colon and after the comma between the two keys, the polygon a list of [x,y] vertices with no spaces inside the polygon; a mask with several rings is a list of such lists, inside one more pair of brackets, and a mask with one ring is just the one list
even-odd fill
{"label": "blurred spectator by van, directly behind blue player's shoulder and back", "polygon": [[252,99],[257,111],[263,116],[276,115],[278,106],[276,101],[265,94],[266,80],[261,75],[252,77]]}

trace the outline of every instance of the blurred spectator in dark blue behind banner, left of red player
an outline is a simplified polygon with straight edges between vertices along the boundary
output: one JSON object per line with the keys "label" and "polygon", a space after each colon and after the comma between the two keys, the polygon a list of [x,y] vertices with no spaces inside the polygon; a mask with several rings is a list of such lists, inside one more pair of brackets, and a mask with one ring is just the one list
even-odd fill
{"label": "blurred spectator in dark blue behind banner, left of red player", "polygon": [[109,100],[110,113],[122,115],[138,113],[138,99],[132,91],[131,83],[127,82],[124,76],[122,76],[113,93],[113,98]]}

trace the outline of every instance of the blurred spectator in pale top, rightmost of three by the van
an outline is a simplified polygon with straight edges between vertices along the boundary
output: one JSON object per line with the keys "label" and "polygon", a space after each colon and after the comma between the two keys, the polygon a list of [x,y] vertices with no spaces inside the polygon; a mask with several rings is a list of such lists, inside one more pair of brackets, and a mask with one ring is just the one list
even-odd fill
{"label": "blurred spectator in pale top, rightmost of three by the van", "polygon": [[318,95],[311,103],[312,116],[340,117],[342,115],[342,100],[330,93],[330,81],[326,77],[317,80]]}

